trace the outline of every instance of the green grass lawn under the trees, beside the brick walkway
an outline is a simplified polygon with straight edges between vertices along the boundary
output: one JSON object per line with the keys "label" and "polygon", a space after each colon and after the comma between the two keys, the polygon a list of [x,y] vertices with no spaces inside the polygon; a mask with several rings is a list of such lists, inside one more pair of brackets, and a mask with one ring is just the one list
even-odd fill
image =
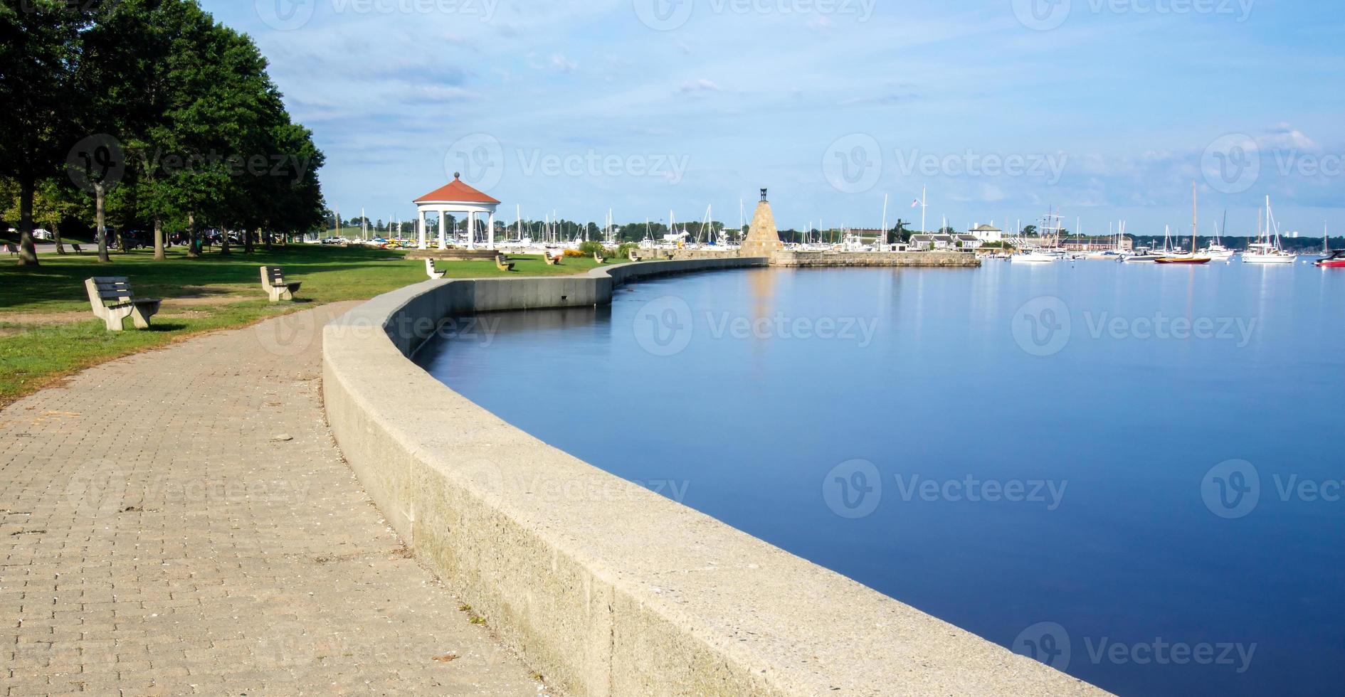
{"label": "green grass lawn under the trees, beside the brick walkway", "polygon": [[[149,251],[113,252],[101,265],[93,254],[43,254],[38,267],[0,265],[0,406],[65,376],[112,359],[163,346],[192,334],[245,326],[325,302],[367,299],[426,279],[425,263],[399,251],[296,244],[254,254],[215,252],[188,259],[182,248],[156,262]],[[541,257],[518,257],[515,271],[492,261],[440,262],[448,278],[566,275],[597,266],[592,258],[547,266]],[[301,281],[299,302],[270,304],[258,266],[282,266]],[[83,281],[124,275],[139,297],[164,298],[151,330],[108,332],[89,310]]]}

